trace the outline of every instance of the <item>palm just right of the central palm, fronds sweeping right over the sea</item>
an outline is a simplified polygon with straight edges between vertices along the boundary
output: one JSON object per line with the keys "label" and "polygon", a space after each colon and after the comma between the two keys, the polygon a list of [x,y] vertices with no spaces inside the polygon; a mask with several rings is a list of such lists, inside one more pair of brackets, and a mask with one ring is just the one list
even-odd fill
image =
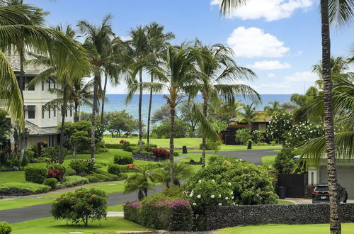
{"label": "palm just right of the central palm, fronds sweeping right over the sea", "polygon": [[[195,52],[198,77],[200,77],[200,85],[198,90],[202,94],[203,104],[202,110],[205,118],[208,116],[208,104],[212,99],[218,99],[218,96],[224,96],[224,99],[229,101],[229,104],[234,104],[234,96],[254,95],[260,99],[259,94],[251,87],[244,84],[230,84],[238,80],[253,79],[256,77],[250,69],[239,67],[232,59],[231,48],[224,45],[216,44],[210,47],[202,45],[197,40],[197,46],[191,48]],[[195,85],[192,85],[195,87]],[[195,93],[196,94],[196,93]],[[205,167],[205,150],[207,146],[207,139],[205,135],[202,136],[202,167]]]}

